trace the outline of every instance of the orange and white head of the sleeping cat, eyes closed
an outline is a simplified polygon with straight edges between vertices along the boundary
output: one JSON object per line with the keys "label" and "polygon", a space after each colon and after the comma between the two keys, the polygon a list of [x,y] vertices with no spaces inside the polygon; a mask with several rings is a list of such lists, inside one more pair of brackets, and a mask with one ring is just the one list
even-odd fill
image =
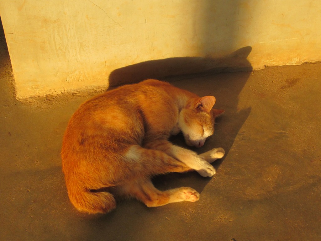
{"label": "orange and white head of the sleeping cat, eyes closed", "polygon": [[179,114],[178,125],[188,146],[202,147],[207,137],[214,133],[214,119],[223,110],[212,109],[214,96],[188,100]]}

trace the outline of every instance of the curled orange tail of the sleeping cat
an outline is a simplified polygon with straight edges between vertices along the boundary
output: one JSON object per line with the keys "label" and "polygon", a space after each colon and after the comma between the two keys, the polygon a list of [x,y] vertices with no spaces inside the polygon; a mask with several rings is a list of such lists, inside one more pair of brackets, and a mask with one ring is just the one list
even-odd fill
{"label": "curled orange tail of the sleeping cat", "polygon": [[68,196],[75,208],[81,212],[107,213],[116,207],[115,198],[109,192],[91,192],[81,188],[69,188]]}

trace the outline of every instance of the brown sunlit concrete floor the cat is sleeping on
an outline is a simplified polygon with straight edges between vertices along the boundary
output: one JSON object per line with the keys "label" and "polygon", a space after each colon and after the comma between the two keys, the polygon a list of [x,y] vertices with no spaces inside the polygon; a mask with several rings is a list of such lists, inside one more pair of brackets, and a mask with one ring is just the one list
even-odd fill
{"label": "brown sunlit concrete floor the cat is sleeping on", "polygon": [[87,215],[68,200],[60,148],[69,118],[90,95],[21,103],[3,37],[0,61],[0,240],[321,238],[320,63],[172,78],[226,110],[197,149],[225,149],[216,175],[155,178],[160,189],[195,188],[195,203],[147,208],[124,200],[107,215]]}

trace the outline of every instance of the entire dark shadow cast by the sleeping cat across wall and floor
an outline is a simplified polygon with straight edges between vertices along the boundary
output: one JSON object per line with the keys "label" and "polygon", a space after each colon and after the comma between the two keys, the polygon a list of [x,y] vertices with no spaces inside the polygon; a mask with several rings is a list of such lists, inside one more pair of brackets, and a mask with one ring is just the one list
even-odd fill
{"label": "entire dark shadow cast by the sleeping cat across wall and floor", "polygon": [[[225,156],[212,164],[217,170],[216,175],[218,175],[220,165],[228,155],[240,128],[251,111],[250,107],[238,109],[239,93],[252,71],[252,66],[247,60],[251,50],[252,48],[247,46],[221,58],[168,58],[119,68],[110,74],[108,89],[155,78],[171,82],[173,85],[199,96],[215,96],[214,108],[224,109],[225,113],[216,119],[214,134],[206,140],[205,145],[201,148],[192,148],[192,150],[201,154],[215,147],[222,147],[225,150]],[[222,73],[237,71],[242,72],[237,74]],[[187,147],[181,134],[172,137],[170,141],[176,145]],[[211,178],[204,178],[195,171],[171,173],[153,178],[155,187],[160,190],[187,186],[200,193],[210,181]]]}

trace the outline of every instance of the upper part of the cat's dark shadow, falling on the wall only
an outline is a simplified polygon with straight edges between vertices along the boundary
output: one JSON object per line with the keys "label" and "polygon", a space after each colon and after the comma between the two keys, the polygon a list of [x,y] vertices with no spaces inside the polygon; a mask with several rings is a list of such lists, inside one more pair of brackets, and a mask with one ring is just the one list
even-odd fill
{"label": "upper part of the cat's dark shadow, falling on the wall only", "polygon": [[238,49],[221,58],[177,57],[146,61],[114,70],[109,75],[109,86],[137,83],[145,79],[163,79],[203,73],[251,71],[247,60],[250,46]]}

